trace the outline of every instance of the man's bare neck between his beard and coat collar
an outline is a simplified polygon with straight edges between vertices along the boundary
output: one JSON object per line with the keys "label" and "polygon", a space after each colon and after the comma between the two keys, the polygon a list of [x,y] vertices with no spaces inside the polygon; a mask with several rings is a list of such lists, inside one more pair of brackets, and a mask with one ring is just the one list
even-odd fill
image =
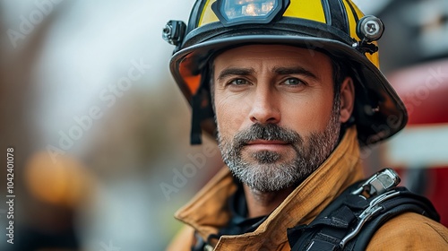
{"label": "man's bare neck between his beard and coat collar", "polygon": [[244,185],[248,218],[254,218],[270,214],[282,203],[294,190],[289,187],[276,192],[260,192]]}

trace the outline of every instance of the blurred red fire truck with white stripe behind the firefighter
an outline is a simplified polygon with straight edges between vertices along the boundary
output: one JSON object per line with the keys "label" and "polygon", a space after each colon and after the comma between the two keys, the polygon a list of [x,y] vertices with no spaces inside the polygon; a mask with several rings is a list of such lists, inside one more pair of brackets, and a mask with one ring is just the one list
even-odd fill
{"label": "blurred red fire truck with white stripe behind the firefighter", "polygon": [[414,65],[388,75],[409,112],[408,125],[383,144],[383,165],[426,195],[448,226],[448,59]]}

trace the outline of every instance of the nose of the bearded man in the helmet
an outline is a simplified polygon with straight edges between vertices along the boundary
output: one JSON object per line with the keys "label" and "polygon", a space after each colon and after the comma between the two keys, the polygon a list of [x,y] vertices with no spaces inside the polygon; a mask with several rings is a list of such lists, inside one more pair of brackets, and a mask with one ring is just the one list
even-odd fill
{"label": "nose of the bearded man in the helmet", "polygon": [[269,85],[258,85],[253,94],[252,109],[249,113],[253,123],[277,124],[280,122],[280,109],[275,91]]}

